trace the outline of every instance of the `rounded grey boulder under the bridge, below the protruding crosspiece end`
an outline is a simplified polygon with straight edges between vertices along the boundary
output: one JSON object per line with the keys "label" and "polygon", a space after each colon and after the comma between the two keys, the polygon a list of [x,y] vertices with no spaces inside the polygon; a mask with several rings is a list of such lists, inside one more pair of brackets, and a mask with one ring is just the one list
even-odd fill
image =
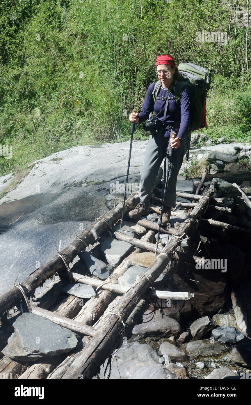
{"label": "rounded grey boulder under the bridge, below the protruding crosspiece end", "polygon": [[143,314],[143,322],[134,326],[132,331],[133,335],[140,335],[144,337],[169,337],[172,335],[177,336],[178,333],[180,333],[181,328],[179,322],[167,316],[165,312],[162,318],[160,311],[155,311],[152,320],[146,322],[149,320],[151,312],[152,311],[146,311]]}

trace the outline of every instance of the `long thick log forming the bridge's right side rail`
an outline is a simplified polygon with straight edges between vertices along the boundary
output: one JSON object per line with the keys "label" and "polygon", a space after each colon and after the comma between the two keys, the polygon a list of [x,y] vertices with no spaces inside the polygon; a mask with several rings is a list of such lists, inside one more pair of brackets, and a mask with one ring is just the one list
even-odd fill
{"label": "long thick log forming the bridge's right side rail", "polygon": [[[212,191],[208,193],[208,196],[204,196],[198,206],[192,211],[192,215],[188,218],[179,228],[179,234],[171,240],[162,253],[159,254],[149,269],[140,277],[137,282],[133,283],[130,289],[120,298],[119,303],[114,308],[114,313],[111,313],[105,317],[101,327],[91,339],[88,347],[78,356],[78,358],[67,369],[64,379],[78,378],[82,375],[83,378],[92,378],[97,374],[100,365],[106,358],[112,353],[114,341],[118,337],[122,328],[121,320],[126,321],[137,303],[141,300],[141,297],[146,293],[150,287],[150,281],[155,281],[162,271],[166,268],[167,263],[171,260],[172,255],[179,247],[184,234],[189,234],[194,231],[198,225],[198,220],[201,214],[207,208],[209,197]],[[181,235],[178,237],[178,235]],[[173,238],[172,238],[173,239]]]}

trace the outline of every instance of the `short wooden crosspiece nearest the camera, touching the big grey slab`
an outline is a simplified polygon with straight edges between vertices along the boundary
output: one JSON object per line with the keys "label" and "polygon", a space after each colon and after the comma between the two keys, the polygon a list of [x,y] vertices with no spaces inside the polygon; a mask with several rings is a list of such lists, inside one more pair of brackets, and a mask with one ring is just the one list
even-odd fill
{"label": "short wooden crosspiece nearest the camera, touching the big grey slab", "polygon": [[73,332],[80,333],[80,335],[87,335],[87,336],[94,336],[95,329],[89,325],[80,324],[79,322],[73,321],[72,319],[66,318],[65,316],[61,316],[57,313],[53,313],[51,311],[47,311],[46,309],[42,309],[37,305],[32,307],[32,312],[35,315],[42,316],[58,324],[63,326],[64,328],[70,329]]}

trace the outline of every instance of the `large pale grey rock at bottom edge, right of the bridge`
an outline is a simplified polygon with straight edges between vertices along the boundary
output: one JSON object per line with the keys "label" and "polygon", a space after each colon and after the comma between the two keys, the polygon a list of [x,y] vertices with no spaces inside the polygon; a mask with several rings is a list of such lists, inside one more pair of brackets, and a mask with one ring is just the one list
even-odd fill
{"label": "large pale grey rock at bottom edge, right of the bridge", "polygon": [[[171,371],[160,365],[158,360],[159,356],[156,350],[150,345],[128,341],[127,344],[123,344],[118,352],[116,352],[116,356],[112,362],[110,378],[177,379]],[[107,360],[105,360],[104,365],[100,369],[100,378],[104,378],[106,366]]]}

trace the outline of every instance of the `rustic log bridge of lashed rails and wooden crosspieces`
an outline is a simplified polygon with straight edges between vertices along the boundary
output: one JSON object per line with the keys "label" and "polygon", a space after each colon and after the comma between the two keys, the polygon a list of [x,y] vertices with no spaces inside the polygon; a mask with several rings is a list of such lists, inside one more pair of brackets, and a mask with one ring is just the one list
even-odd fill
{"label": "rustic log bridge of lashed rails and wooden crosspieces", "polygon": [[[159,183],[162,173],[158,174],[156,184]],[[147,233],[136,239],[128,237],[125,234],[114,231],[114,225],[119,223],[122,215],[122,203],[114,209],[97,219],[91,226],[84,230],[76,239],[71,241],[63,251],[59,252],[49,262],[34,271],[29,277],[23,280],[18,288],[15,286],[2,296],[0,296],[0,346],[1,350],[6,345],[13,329],[13,322],[20,315],[20,301],[22,301],[22,311],[27,311],[36,315],[48,318],[51,321],[72,330],[79,337],[79,343],[70,355],[65,354],[65,358],[60,360],[47,358],[44,362],[15,361],[3,356],[0,360],[0,373],[12,373],[13,378],[49,378],[49,379],[69,379],[85,378],[91,379],[99,373],[103,362],[112,356],[114,350],[120,347],[122,337],[129,333],[133,326],[137,324],[140,317],[149,304],[154,299],[171,300],[189,300],[194,296],[190,292],[173,292],[156,290],[153,288],[154,281],[162,274],[173,275],[178,270],[178,260],[180,254],[185,260],[195,260],[201,262],[202,258],[197,256],[189,257],[185,252],[182,253],[181,243],[184,239],[195,232],[200,224],[202,215],[209,207],[209,202],[213,203],[215,210],[230,212],[231,209],[224,206],[224,198],[212,198],[215,192],[217,180],[212,181],[211,185],[203,189],[202,177],[196,194],[176,193],[179,197],[190,198],[191,203],[181,203],[184,212],[190,213],[187,219],[181,224],[179,229],[161,228],[161,233],[169,234],[169,240],[164,246],[159,243],[158,254],[149,268],[138,278],[130,287],[118,284],[118,277],[124,274],[128,268],[127,257],[113,269],[111,275],[105,282],[83,274],[76,273],[70,269],[70,263],[87,247],[99,243],[99,238],[106,232],[122,241],[130,243],[136,252],[155,252],[154,235],[158,232],[158,224],[148,220],[136,220],[137,224],[146,228]],[[204,190],[200,195],[200,191]],[[124,214],[139,203],[139,195],[133,193],[126,201]],[[160,212],[161,199],[155,198],[151,209],[153,212]],[[177,202],[178,204],[178,202]],[[221,205],[218,207],[217,204]],[[172,212],[172,218],[175,218],[176,211]],[[129,220],[129,218],[127,218]],[[212,220],[213,221],[213,220]],[[209,225],[215,226],[217,221]],[[226,228],[226,224],[217,223],[217,227]],[[236,229],[233,229],[236,228]],[[231,231],[240,231],[238,227],[232,227]],[[228,228],[229,229],[229,228]],[[250,230],[244,230],[250,232]],[[112,233],[111,233],[112,232]],[[88,249],[89,250],[89,249]],[[186,257],[187,256],[187,257]],[[173,260],[176,258],[176,260]],[[53,278],[55,273],[59,275],[58,280],[51,282],[50,286],[34,297],[36,288],[42,286],[44,281]],[[96,289],[96,296],[90,298],[80,307],[79,298],[72,295],[62,295],[61,290],[69,282],[78,282],[88,284]],[[29,299],[32,299],[29,302]],[[25,305],[27,303],[27,308]],[[15,308],[16,312],[12,315],[9,311]],[[51,310],[49,310],[51,309]],[[82,340],[81,340],[82,339]]]}

